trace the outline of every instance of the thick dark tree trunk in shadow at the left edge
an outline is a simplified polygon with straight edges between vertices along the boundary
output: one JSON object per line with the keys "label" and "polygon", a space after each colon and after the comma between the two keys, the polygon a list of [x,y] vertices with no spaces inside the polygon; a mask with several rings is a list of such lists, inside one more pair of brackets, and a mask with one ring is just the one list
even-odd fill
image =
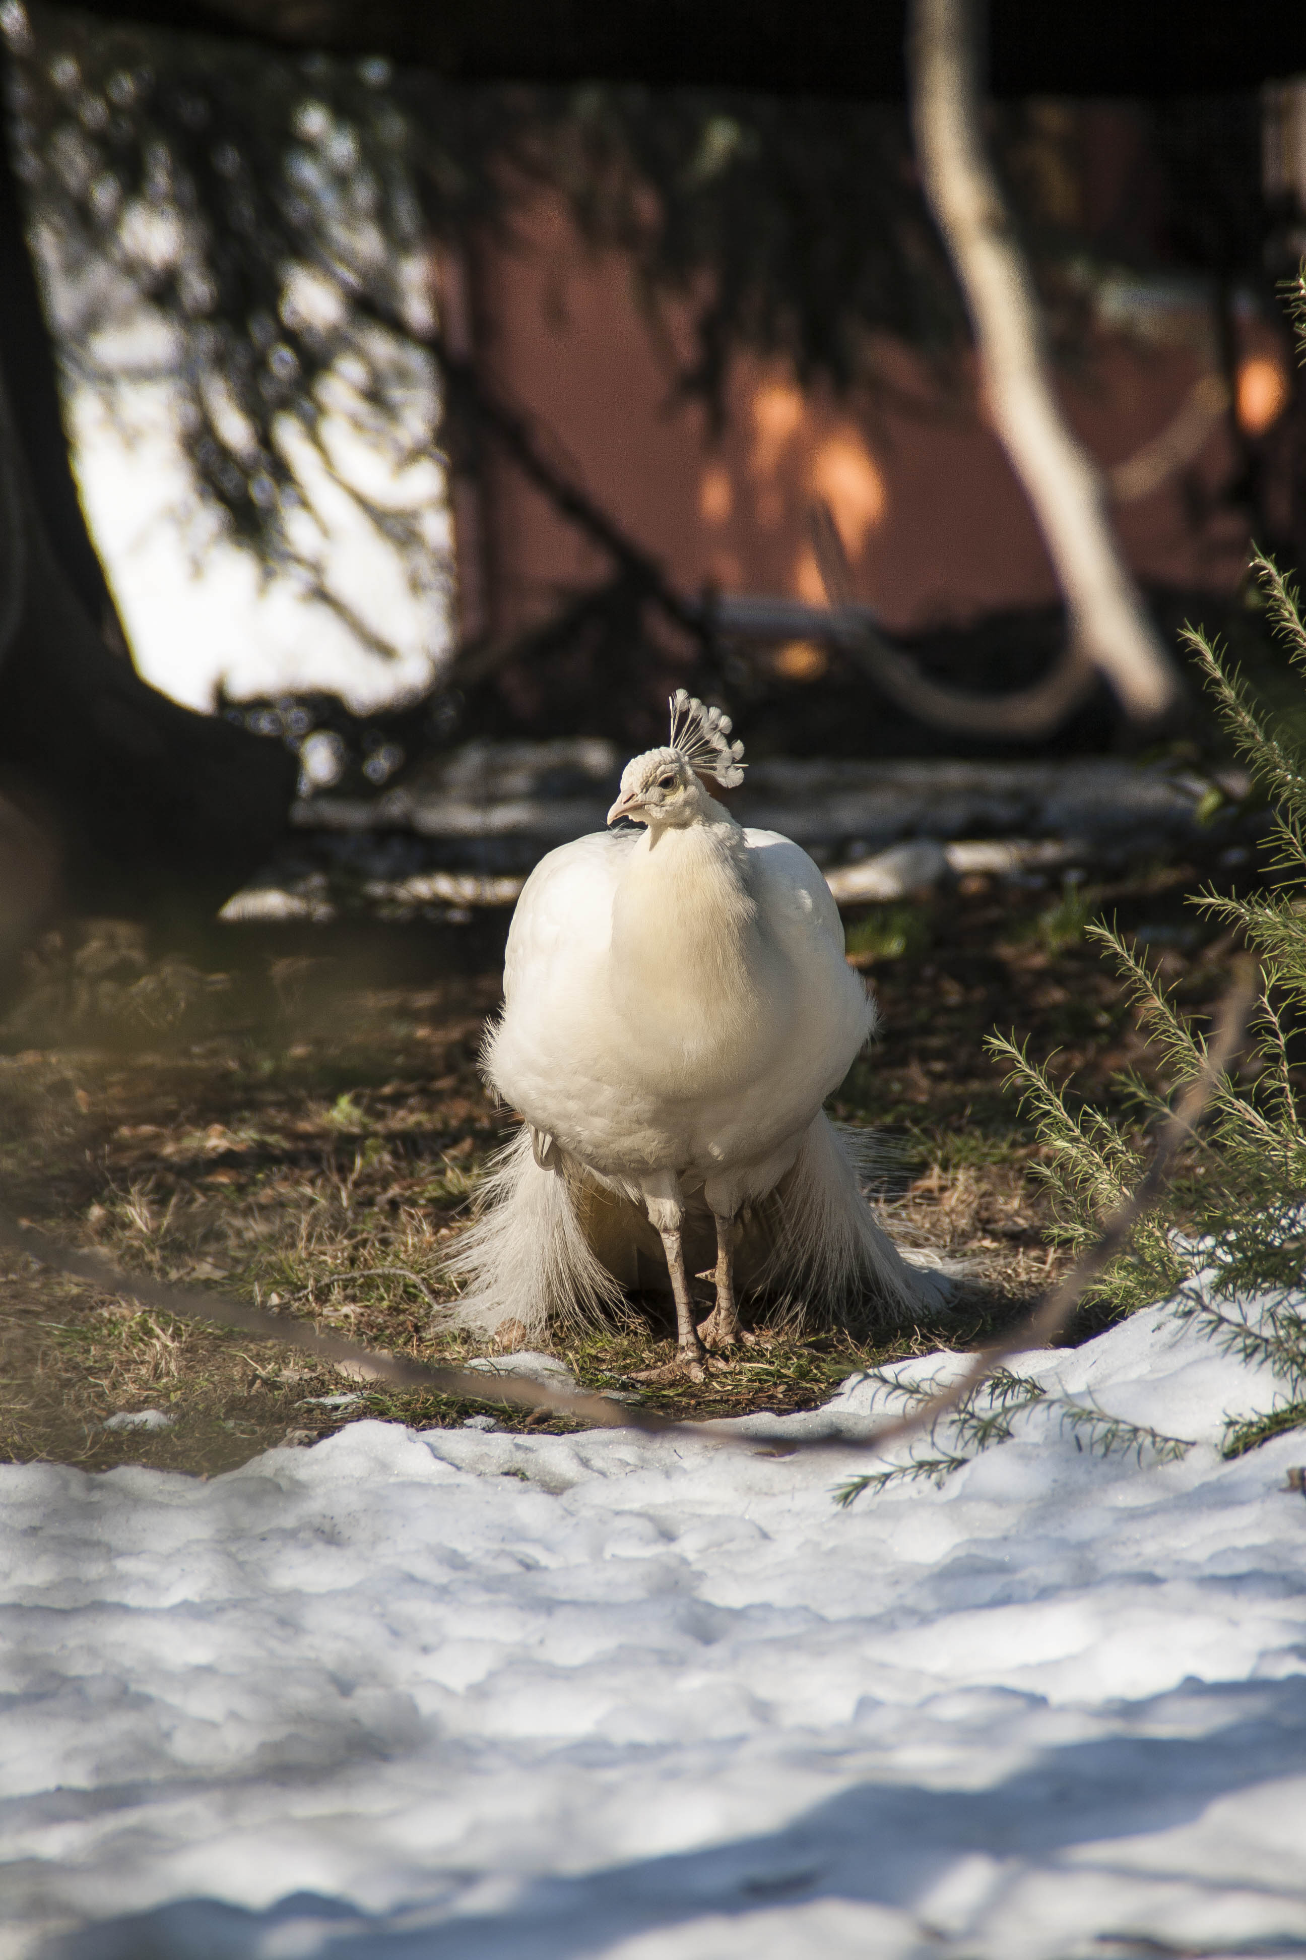
{"label": "thick dark tree trunk in shadow at the left edge", "polygon": [[0,790],[55,833],[70,904],[211,911],[282,835],[296,760],[178,708],[110,645],[121,627],[76,494],[2,141],[0,294]]}

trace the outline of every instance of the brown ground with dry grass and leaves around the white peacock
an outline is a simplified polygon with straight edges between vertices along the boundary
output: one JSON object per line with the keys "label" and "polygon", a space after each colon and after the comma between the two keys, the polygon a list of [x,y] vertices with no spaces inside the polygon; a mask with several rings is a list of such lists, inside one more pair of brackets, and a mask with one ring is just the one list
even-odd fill
{"label": "brown ground with dry grass and leaves around the white peacock", "polygon": [[[1204,1011],[1230,951],[1185,907],[1208,868],[1157,864],[1063,890],[971,878],[930,904],[852,915],[883,1035],[830,1107],[881,1131],[887,1223],[961,1268],[957,1311],[877,1341],[762,1329],[701,1388],[650,1388],[648,1399],[683,1415],[809,1407],[858,1366],[969,1345],[1022,1311],[1061,1254],[1046,1235],[1038,1143],[983,1041],[1014,1029],[1036,1058],[1055,1051],[1079,1094],[1112,1103],[1112,1072],[1147,1074],[1149,1056],[1085,919],[1118,913]],[[180,955],[163,931],[70,925],[29,962],[0,1031],[4,1201],[125,1270],[255,1299],[288,1327],[300,1317],[427,1360],[484,1350],[441,1331],[439,1309],[452,1298],[450,1243],[511,1123],[476,1074],[503,927],[229,929]],[[10,1460],[213,1474],[360,1415],[478,1413],[360,1388],[294,1341],[145,1313],[27,1258],[0,1274]],[[640,1301],[629,1325],[558,1350],[582,1384],[611,1388],[668,1358],[672,1329]],[[145,1409],[168,1427],[104,1427]]]}

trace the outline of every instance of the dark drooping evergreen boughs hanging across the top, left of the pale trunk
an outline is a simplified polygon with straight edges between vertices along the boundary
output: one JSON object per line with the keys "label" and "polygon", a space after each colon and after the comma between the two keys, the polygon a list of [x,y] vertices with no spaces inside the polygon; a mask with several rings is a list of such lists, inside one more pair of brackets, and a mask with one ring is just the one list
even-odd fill
{"label": "dark drooping evergreen boughs hanging across the top, left of the pale trunk", "polygon": [[470,88],[39,0],[6,0],[0,33],[70,378],[110,386],[114,329],[143,308],[206,508],[337,606],[315,578],[296,437],[409,576],[431,576],[413,514],[341,470],[333,427],[399,470],[444,441],[474,449],[474,429],[439,419],[431,245],[511,245],[540,192],[629,255],[650,316],[687,304],[679,382],[719,412],[740,343],[846,384],[867,378],[875,333],[942,355],[963,327],[901,108]]}

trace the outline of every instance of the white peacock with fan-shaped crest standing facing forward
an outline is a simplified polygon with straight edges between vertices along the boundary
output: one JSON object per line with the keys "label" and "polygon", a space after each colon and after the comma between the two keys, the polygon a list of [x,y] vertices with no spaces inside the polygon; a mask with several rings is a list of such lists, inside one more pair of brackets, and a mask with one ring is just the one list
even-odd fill
{"label": "white peacock with fan-shaped crest standing facing forward", "polygon": [[550,851],[517,902],[484,1068],[525,1121],[456,1260],[482,1325],[540,1335],[670,1282],[693,1372],[699,1256],[719,1343],[740,1286],[824,1319],[920,1296],[822,1113],[875,1007],[816,864],[705,788],[742,780],[728,737],[677,694],[670,747],[627,764],[609,811],[642,827]]}

